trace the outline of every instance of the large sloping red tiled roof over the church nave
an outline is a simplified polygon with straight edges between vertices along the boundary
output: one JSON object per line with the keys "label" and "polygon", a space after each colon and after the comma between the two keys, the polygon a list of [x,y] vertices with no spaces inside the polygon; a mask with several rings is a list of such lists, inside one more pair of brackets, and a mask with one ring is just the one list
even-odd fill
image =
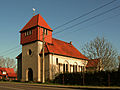
{"label": "large sloping red tiled roof over the church nave", "polygon": [[46,43],[45,53],[48,52],[74,58],[88,59],[72,44],[54,38],[52,39],[52,44]]}

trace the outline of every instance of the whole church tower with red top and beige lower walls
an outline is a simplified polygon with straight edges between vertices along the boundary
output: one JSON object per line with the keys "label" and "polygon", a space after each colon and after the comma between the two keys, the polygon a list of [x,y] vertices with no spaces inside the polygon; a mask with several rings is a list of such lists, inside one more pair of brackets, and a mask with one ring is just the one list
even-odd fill
{"label": "whole church tower with red top and beige lower walls", "polygon": [[43,41],[52,44],[52,29],[40,14],[33,16],[20,30],[22,45],[22,81],[42,81],[41,58]]}

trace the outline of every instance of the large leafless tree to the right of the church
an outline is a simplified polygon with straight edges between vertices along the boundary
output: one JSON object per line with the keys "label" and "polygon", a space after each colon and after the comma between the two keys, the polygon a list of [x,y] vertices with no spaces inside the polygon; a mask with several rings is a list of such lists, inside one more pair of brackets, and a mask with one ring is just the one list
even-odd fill
{"label": "large leafless tree to the right of the church", "polygon": [[113,70],[117,67],[117,51],[113,49],[110,42],[104,37],[96,37],[93,41],[85,44],[82,52],[89,59],[98,59],[102,61],[104,70]]}

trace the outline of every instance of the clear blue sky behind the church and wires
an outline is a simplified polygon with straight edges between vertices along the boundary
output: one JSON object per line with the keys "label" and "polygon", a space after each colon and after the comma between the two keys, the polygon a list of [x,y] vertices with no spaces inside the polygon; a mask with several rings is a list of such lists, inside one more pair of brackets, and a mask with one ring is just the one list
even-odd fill
{"label": "clear blue sky behind the church and wires", "polygon": [[[53,29],[54,38],[72,41],[81,51],[87,42],[97,36],[104,37],[120,54],[120,7],[71,27],[119,6],[120,0],[54,30],[55,27],[111,1],[113,0],[0,0],[0,56],[15,59],[22,51],[19,31],[33,17],[32,8],[36,9],[35,15],[40,14]],[[71,28],[66,29],[68,27]],[[54,34],[55,32],[60,33]]]}

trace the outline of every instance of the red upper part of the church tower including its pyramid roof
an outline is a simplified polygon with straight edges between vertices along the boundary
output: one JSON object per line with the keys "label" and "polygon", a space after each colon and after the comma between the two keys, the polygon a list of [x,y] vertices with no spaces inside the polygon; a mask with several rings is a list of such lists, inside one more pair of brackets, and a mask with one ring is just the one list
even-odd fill
{"label": "red upper part of the church tower including its pyramid roof", "polygon": [[33,16],[31,20],[22,28],[21,40],[22,45],[34,41],[42,41],[43,29],[45,30],[45,42],[52,43],[52,29],[40,14]]}

